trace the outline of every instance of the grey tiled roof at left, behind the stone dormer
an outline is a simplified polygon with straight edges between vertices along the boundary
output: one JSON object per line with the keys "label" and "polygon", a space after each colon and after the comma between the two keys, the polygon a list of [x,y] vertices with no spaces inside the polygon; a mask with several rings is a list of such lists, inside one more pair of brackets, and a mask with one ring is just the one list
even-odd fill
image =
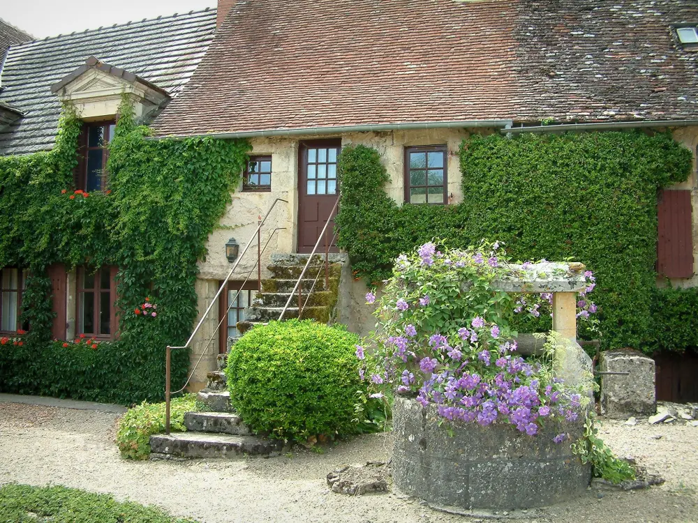
{"label": "grey tiled roof at left, behind the stone dormer", "polygon": [[2,70],[0,103],[24,118],[0,130],[0,154],[51,149],[61,106],[51,86],[89,56],[125,69],[177,96],[204,56],[216,10],[193,11],[35,40],[10,48]]}

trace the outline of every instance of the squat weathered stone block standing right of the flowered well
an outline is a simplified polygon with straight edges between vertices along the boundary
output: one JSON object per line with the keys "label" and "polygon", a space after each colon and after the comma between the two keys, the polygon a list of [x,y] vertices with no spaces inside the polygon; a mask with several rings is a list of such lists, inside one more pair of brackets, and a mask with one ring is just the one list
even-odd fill
{"label": "squat weathered stone block standing right of the flowered well", "polygon": [[655,363],[652,358],[632,349],[618,349],[602,352],[599,363],[602,372],[630,372],[627,376],[602,374],[602,414],[609,418],[655,414]]}

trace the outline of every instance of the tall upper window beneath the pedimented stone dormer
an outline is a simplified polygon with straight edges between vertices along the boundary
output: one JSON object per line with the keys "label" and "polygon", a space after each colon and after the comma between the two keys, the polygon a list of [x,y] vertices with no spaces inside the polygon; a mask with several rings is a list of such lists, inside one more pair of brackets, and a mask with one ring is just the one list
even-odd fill
{"label": "tall upper window beneath the pedimented stone dormer", "polygon": [[84,123],[82,126],[76,188],[85,192],[107,189],[109,143],[115,128],[114,121]]}

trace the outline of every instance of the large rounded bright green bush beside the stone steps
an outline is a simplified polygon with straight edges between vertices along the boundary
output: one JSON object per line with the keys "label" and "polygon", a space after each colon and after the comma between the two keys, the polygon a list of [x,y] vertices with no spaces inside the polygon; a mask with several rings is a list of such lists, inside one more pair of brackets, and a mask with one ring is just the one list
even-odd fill
{"label": "large rounded bright green bush beside the stone steps", "polygon": [[228,356],[230,402],[253,430],[276,437],[355,433],[358,342],[343,326],[312,320],[256,326]]}

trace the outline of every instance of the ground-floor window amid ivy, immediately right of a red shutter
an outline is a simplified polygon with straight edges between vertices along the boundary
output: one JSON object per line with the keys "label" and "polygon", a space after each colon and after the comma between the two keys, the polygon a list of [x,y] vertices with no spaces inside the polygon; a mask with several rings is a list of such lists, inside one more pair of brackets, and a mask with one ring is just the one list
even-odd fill
{"label": "ground-floor window amid ivy, immediately right of a red shutter", "polygon": [[115,267],[102,267],[95,273],[77,269],[77,333],[95,338],[114,338]]}

